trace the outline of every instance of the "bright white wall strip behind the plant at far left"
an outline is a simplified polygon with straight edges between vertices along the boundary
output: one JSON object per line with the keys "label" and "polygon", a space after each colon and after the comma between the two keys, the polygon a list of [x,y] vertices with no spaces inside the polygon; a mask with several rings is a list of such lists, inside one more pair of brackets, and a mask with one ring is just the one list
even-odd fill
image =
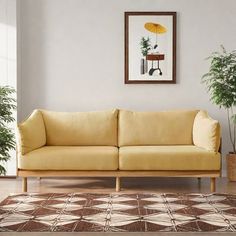
{"label": "bright white wall strip behind the plant at far left", "polygon": [[[0,0],[0,85],[16,88],[16,0]],[[15,115],[16,116],[16,115]],[[15,128],[15,123],[11,124]],[[16,174],[16,153],[11,160],[1,163],[7,175]]]}

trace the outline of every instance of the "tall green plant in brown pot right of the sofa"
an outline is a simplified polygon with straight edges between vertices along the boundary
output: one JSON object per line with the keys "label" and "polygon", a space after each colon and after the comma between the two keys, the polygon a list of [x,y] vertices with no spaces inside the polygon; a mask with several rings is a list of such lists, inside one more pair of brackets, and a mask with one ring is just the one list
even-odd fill
{"label": "tall green plant in brown pot right of the sofa", "polygon": [[202,81],[211,94],[211,101],[227,111],[229,138],[232,150],[226,156],[227,173],[230,181],[236,181],[236,50],[227,52],[221,46],[220,52],[214,52],[209,72]]}

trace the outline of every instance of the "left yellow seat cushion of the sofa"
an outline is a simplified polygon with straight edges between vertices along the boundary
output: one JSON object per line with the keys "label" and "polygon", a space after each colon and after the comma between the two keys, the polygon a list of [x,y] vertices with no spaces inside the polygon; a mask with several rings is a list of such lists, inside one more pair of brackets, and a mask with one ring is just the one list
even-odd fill
{"label": "left yellow seat cushion of the sofa", "polygon": [[44,146],[19,156],[25,170],[117,170],[118,148],[108,146]]}

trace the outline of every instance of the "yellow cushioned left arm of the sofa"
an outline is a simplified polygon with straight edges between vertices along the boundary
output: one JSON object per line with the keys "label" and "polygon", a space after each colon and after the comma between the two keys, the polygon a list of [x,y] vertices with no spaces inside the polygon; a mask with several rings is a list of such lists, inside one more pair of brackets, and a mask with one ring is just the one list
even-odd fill
{"label": "yellow cushioned left arm of the sofa", "polygon": [[46,131],[41,111],[33,113],[18,124],[18,151],[24,155],[46,144]]}

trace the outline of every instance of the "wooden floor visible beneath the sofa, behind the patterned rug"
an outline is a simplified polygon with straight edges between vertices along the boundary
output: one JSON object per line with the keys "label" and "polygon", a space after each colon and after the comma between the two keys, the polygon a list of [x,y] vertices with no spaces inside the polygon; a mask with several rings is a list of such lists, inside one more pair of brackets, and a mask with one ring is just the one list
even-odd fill
{"label": "wooden floor visible beneath the sofa, behind the patterned rug", "polygon": [[[217,179],[216,192],[236,194],[236,182]],[[210,180],[202,178],[122,178],[122,193],[209,193]],[[28,192],[115,192],[115,178],[29,178]],[[0,179],[0,200],[9,194],[21,193],[21,178]]]}

